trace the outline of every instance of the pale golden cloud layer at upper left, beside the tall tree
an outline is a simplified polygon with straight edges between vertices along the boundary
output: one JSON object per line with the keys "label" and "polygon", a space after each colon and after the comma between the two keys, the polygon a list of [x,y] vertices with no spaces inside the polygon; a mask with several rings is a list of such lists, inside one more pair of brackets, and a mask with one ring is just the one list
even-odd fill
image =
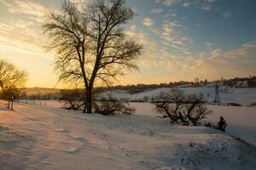
{"label": "pale golden cloud layer at upper left, beside the tall tree", "polygon": [[1,3],[11,16],[0,19],[0,49],[40,57],[48,56],[42,50],[47,41],[40,26],[49,8],[28,0],[0,0]]}

